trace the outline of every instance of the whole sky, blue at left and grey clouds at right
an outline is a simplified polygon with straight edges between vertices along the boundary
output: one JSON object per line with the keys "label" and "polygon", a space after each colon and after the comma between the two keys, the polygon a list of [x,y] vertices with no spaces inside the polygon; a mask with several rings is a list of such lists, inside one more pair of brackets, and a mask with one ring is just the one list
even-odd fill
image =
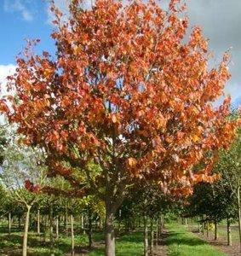
{"label": "whole sky, blue at left and grey clouds at right", "polygon": [[[55,0],[66,12],[69,0]],[[90,3],[90,0],[88,0]],[[168,0],[158,1],[166,6]],[[89,4],[88,3],[88,4]],[[186,0],[186,14],[190,26],[202,26],[204,37],[209,38],[209,49],[214,55],[211,65],[217,65],[222,54],[231,49],[229,69],[232,79],[225,91],[232,96],[232,104],[241,104],[241,0]],[[53,26],[48,0],[0,1],[0,82],[15,67],[15,56],[26,45],[26,38],[40,38],[39,50],[54,52],[55,43],[50,38]]]}

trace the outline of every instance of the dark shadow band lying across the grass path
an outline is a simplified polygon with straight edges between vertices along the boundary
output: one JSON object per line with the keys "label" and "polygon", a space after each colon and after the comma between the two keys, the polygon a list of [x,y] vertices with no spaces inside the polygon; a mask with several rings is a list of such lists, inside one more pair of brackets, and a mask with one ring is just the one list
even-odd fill
{"label": "dark shadow band lying across the grass path", "polygon": [[[178,238],[177,238],[178,236]],[[198,237],[185,237],[185,233],[182,232],[169,232],[168,245],[182,244],[190,247],[206,245],[207,242],[199,239]]]}

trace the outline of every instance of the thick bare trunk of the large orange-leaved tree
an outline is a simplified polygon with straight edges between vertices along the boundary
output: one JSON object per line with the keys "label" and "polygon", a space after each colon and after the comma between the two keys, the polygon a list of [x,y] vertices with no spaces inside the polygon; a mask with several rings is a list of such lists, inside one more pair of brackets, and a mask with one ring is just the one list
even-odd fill
{"label": "thick bare trunk of the large orange-leaved tree", "polygon": [[112,207],[106,202],[106,222],[105,222],[105,236],[106,236],[106,256],[115,256],[115,230],[114,230],[114,215]]}

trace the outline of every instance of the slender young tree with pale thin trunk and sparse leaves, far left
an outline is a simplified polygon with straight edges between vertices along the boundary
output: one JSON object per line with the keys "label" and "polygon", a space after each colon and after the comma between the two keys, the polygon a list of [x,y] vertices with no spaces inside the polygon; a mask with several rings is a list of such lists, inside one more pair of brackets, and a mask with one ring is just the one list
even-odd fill
{"label": "slender young tree with pale thin trunk and sparse leaves, far left", "polygon": [[[8,129],[6,137],[11,139],[2,152],[3,163],[0,168],[0,177],[9,190],[8,195],[12,198],[11,201],[19,202],[26,208],[22,247],[22,255],[26,256],[30,211],[38,199],[46,170],[39,165],[39,162],[43,160],[43,154],[26,145],[18,145],[18,137],[14,135],[10,127]],[[9,211],[9,220],[10,214]]]}

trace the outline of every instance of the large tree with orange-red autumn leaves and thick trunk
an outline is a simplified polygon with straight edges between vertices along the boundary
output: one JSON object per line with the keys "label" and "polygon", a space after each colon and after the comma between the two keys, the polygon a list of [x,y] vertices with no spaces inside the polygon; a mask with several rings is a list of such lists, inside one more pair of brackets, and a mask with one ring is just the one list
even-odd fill
{"label": "large tree with orange-red autumn leaves and thick trunk", "polygon": [[[180,18],[178,0],[167,10],[152,0],[97,0],[91,9],[80,3],[71,1],[66,21],[52,5],[55,56],[35,55],[38,40],[29,41],[9,77],[16,97],[3,98],[1,110],[25,143],[44,148],[50,175],[79,188],[82,172],[89,193],[105,201],[106,255],[114,256],[114,214],[136,179],[188,194],[193,183],[215,178],[215,154],[204,170],[192,166],[234,136],[230,98],[212,107],[230,77],[228,56],[209,69],[199,27],[184,43],[188,19]],[[93,161],[100,166],[95,175]]]}

